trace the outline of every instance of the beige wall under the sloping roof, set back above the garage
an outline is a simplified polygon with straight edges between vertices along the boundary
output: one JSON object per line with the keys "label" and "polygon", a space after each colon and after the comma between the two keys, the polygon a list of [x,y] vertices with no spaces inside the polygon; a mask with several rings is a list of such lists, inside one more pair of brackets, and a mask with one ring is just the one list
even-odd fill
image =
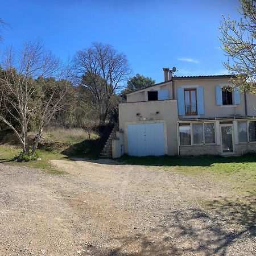
{"label": "beige wall under the sloping roof, set back above the garage", "polygon": [[164,84],[151,86],[144,90],[138,90],[138,92],[127,94],[127,102],[147,101],[147,92],[150,90],[169,90],[169,99],[172,99],[172,82],[169,81]]}

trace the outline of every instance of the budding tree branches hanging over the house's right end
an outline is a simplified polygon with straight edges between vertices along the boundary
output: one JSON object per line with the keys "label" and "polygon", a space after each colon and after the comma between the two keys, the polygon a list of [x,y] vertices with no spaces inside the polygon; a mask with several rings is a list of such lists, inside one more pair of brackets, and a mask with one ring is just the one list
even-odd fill
{"label": "budding tree branches hanging over the house's right end", "polygon": [[228,61],[224,63],[230,72],[234,86],[256,94],[256,1],[240,0],[240,20],[228,16],[221,22],[220,38]]}

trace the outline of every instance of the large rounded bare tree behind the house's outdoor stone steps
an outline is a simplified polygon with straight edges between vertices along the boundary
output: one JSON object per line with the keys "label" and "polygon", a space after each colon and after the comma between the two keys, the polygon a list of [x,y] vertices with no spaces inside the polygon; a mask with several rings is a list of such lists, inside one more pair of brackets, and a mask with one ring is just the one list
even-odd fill
{"label": "large rounded bare tree behind the house's outdoor stone steps", "polygon": [[131,73],[126,56],[108,44],[93,43],[92,47],[77,52],[73,62],[77,82],[90,90],[96,102],[105,102],[102,108],[105,122],[113,94],[123,87]]}

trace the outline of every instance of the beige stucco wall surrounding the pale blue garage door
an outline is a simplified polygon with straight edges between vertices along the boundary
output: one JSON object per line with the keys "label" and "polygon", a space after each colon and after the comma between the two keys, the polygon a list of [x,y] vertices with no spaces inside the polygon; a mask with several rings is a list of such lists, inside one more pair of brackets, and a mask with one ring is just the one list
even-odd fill
{"label": "beige stucco wall surrounding the pale blue garage door", "polygon": [[[156,113],[159,112],[159,113]],[[119,104],[119,130],[127,153],[127,125],[131,123],[163,122],[168,155],[177,155],[177,101],[147,101]]]}

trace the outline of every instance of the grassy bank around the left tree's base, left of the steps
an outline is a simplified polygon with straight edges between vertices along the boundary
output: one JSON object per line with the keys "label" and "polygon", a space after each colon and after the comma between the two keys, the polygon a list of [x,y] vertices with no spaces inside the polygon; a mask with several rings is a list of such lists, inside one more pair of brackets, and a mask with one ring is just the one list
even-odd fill
{"label": "grassy bank around the left tree's base, left of the steps", "polygon": [[[39,159],[18,163],[13,158],[19,154],[21,148],[17,143],[13,143],[11,135],[5,137],[6,142],[10,144],[0,145],[1,163],[40,168],[49,174],[63,175],[65,172],[56,170],[50,164],[50,160],[72,160],[75,157],[96,159],[98,157],[97,134],[91,134],[88,140],[88,133],[82,129],[48,129],[43,133],[39,142]],[[30,139],[34,136],[34,133],[29,134]]]}

